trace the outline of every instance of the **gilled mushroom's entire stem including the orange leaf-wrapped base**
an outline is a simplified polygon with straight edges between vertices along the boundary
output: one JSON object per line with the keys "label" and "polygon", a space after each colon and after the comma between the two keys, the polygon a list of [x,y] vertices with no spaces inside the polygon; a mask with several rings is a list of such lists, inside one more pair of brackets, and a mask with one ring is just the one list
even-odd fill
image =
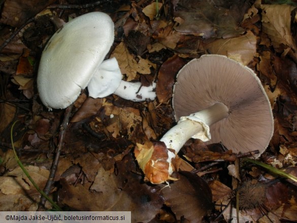
{"label": "gilled mushroom's entire stem including the orange leaf-wrapped base", "polygon": [[[209,125],[229,115],[229,109],[221,102],[200,112],[180,118],[177,125],[170,129],[160,141],[163,143],[150,145],[137,144],[134,150],[136,160],[151,183],[162,183],[174,179],[171,175],[176,170],[176,154],[190,138],[210,140]],[[178,162],[177,162],[178,163]]]}

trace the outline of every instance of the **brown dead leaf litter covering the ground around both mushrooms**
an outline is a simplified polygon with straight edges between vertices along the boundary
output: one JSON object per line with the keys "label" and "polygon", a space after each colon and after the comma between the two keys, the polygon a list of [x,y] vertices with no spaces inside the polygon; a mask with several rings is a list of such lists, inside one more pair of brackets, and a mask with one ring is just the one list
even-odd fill
{"label": "brown dead leaf litter covering the ground around both mushrooms", "polygon": [[15,146],[40,187],[57,147],[63,111],[47,111],[35,84],[42,49],[56,29],[49,21],[103,11],[114,22],[123,21],[116,25],[109,57],[117,58],[127,81],[146,85],[157,80],[157,99],[92,99],[83,91],[72,111],[50,196],[58,193],[58,204],[72,210],[132,211],[133,222],[208,222],[236,219],[238,193],[240,222],[296,220],[293,183],[239,163],[240,154],[223,145],[189,140],[180,156],[190,164],[180,168],[197,174],[177,173],[179,180],[169,185],[145,183],[132,153],[136,143],[157,140],[175,124],[171,98],[179,69],[202,54],[221,54],[258,74],[273,107],[275,131],[261,161],[296,175],[296,6],[177,0],[106,1],[80,8],[79,1],[71,1],[62,10],[59,5],[46,8],[53,1],[27,2],[5,1],[0,20],[0,210],[36,210],[40,200],[14,161],[12,122],[21,119]]}

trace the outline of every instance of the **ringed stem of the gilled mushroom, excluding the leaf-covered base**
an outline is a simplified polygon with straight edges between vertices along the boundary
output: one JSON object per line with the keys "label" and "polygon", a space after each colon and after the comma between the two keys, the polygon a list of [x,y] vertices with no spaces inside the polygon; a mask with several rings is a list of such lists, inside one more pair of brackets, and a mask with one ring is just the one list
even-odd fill
{"label": "ringed stem of the gilled mushroom, excluding the leaf-covered base", "polygon": [[229,109],[221,102],[180,118],[180,121],[170,129],[160,141],[164,142],[167,148],[178,153],[181,147],[190,138],[199,138],[203,141],[210,140],[209,126],[228,117]]}

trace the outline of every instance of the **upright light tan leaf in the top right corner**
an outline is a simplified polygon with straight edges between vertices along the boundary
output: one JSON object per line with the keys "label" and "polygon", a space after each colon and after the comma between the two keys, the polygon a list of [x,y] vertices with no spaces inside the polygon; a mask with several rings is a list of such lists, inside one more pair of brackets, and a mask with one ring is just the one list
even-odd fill
{"label": "upright light tan leaf in the top right corner", "polygon": [[289,5],[261,5],[262,31],[268,35],[273,47],[279,51],[290,47],[296,58],[296,42],[291,35],[291,12],[295,9]]}

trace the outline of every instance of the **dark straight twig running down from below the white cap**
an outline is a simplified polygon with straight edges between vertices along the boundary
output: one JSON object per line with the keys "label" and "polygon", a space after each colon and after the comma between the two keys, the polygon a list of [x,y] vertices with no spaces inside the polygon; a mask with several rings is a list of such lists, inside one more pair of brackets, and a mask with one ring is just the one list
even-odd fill
{"label": "dark straight twig running down from below the white cap", "polygon": [[[55,158],[53,160],[53,164],[52,164],[52,167],[51,167],[51,170],[50,170],[50,175],[49,175],[48,181],[47,181],[46,186],[44,188],[44,193],[46,195],[49,194],[49,192],[51,190],[51,187],[53,185],[53,182],[54,182],[54,177],[55,177],[55,174],[56,174],[56,171],[57,171],[59,158],[60,158],[60,154],[61,154],[61,149],[62,149],[62,146],[63,146],[63,143],[64,143],[64,138],[65,138],[65,134],[66,134],[66,131],[67,131],[67,125],[68,125],[68,122],[69,122],[69,119],[70,119],[72,108],[73,108],[73,105],[69,106],[65,110],[64,119],[63,119],[62,124],[60,126],[59,142],[58,142],[58,147],[57,147],[57,150],[56,150],[56,155],[55,155]],[[46,202],[46,199],[44,199],[44,198],[40,199],[40,204],[39,204],[39,207],[38,207],[39,211],[41,211],[43,209],[43,207],[45,205],[45,202]]]}

